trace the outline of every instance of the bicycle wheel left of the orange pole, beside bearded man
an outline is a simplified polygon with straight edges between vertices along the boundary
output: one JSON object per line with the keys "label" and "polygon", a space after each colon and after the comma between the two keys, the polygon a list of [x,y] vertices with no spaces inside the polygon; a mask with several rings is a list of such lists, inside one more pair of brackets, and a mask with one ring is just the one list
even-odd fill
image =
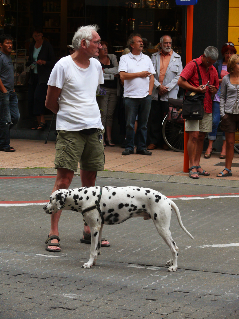
{"label": "bicycle wheel left of the orange pole, beside bearded man", "polygon": [[163,138],[165,143],[176,152],[184,151],[184,123],[173,123],[164,120]]}

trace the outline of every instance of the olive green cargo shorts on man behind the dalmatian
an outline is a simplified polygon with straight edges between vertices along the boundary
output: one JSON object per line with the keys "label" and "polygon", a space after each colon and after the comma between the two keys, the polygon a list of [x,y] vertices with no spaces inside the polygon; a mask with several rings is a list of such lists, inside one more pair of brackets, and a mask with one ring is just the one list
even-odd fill
{"label": "olive green cargo shorts on man behind the dalmatian", "polygon": [[[105,130],[101,133],[104,134]],[[102,171],[105,165],[103,140],[98,132],[84,135],[80,131],[60,130],[56,138],[55,168],[67,168],[77,172],[78,162],[85,171]]]}

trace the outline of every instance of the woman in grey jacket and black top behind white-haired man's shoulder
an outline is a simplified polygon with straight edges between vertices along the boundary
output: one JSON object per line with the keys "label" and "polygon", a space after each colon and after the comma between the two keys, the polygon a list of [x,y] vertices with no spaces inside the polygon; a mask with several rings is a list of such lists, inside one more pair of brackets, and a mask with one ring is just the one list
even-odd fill
{"label": "woman in grey jacket and black top behind white-haired man's shoulder", "polygon": [[111,138],[111,130],[113,125],[114,110],[120,96],[120,82],[116,56],[114,54],[108,54],[108,43],[105,41],[100,42],[102,49],[99,49],[99,56],[96,59],[100,62],[105,83],[100,85],[100,88],[104,88],[106,91],[105,96],[98,96],[97,103],[100,108],[101,122],[106,131],[106,140],[104,140],[104,146],[114,146]]}

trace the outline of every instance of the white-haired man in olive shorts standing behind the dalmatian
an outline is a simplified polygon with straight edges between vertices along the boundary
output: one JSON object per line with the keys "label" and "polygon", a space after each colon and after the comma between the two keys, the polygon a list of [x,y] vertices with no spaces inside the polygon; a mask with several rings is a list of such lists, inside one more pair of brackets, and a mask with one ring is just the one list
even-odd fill
{"label": "white-haired man in olive shorts standing behind the dalmatian", "polygon": [[[97,171],[104,169],[104,127],[96,101],[99,84],[104,83],[102,67],[94,57],[99,55],[98,26],[82,26],[76,31],[72,55],[60,59],[49,81],[46,107],[56,114],[55,168],[53,191],[68,189],[80,162],[82,187],[95,186]],[[51,215],[51,229],[46,250],[59,252],[58,222],[61,211]],[[81,242],[91,243],[90,228],[84,224]],[[110,246],[103,240],[102,247]]]}

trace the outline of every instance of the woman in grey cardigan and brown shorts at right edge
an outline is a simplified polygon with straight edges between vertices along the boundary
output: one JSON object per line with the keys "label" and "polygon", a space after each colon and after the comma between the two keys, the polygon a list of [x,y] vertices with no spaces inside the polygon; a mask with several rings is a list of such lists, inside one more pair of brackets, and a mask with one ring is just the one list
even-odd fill
{"label": "woman in grey cardigan and brown shorts at right edge", "polygon": [[235,132],[239,130],[239,55],[234,54],[228,60],[230,72],[222,79],[220,114],[221,129],[226,135],[226,168],[217,177],[232,176],[231,165],[234,156]]}

